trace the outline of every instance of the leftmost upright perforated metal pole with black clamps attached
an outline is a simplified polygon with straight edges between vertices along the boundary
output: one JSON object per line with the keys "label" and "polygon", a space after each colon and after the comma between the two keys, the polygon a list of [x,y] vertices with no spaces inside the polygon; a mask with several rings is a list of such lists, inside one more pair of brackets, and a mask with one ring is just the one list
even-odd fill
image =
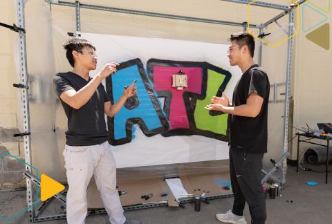
{"label": "leftmost upright perforated metal pole with black clamps attached", "polygon": [[[24,0],[17,0],[17,26],[20,28],[25,28],[24,21]],[[21,79],[21,84],[28,86],[28,72],[26,66],[26,35],[24,32],[19,31],[19,77]],[[29,112],[29,93],[26,88],[23,88],[21,94],[21,101],[23,105],[23,131],[30,132],[30,112]],[[24,156],[26,163],[32,164],[31,160],[31,141],[30,136],[24,136]],[[31,167],[26,165],[26,171],[33,172]],[[26,178],[26,200],[28,203],[28,218],[30,223],[33,222],[35,217],[35,209],[33,208],[33,183],[31,180]]]}

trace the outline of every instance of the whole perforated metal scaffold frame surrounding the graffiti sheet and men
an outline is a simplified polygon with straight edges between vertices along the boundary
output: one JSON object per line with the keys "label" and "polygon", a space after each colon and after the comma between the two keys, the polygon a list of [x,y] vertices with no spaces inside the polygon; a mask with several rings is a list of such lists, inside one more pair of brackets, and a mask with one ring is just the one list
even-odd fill
{"label": "whole perforated metal scaffold frame surrounding the graffiti sheet and men", "polygon": [[[219,24],[219,25],[225,25],[225,26],[242,26],[243,30],[246,30],[247,23],[237,23],[232,21],[221,21],[221,20],[214,20],[214,19],[202,19],[202,18],[196,18],[196,17],[184,17],[179,15],[169,15],[169,14],[162,14],[162,13],[156,13],[156,12],[145,12],[145,11],[138,11],[138,10],[127,10],[122,8],[112,8],[112,7],[104,7],[104,6],[93,6],[93,5],[87,5],[82,4],[79,1],[76,1],[75,3],[66,2],[66,1],[58,1],[58,0],[45,0],[47,3],[50,3],[50,5],[57,5],[57,6],[69,6],[75,8],[75,17],[76,17],[76,33],[79,33],[81,31],[81,23],[80,23],[80,8],[86,8],[91,10],[103,10],[103,11],[109,11],[109,12],[116,12],[116,13],[126,13],[131,15],[142,15],[147,17],[159,17],[164,19],[177,19],[177,20],[184,20],[184,21],[195,21],[195,22],[201,22],[201,23],[207,23],[207,24]],[[249,0],[221,0],[221,1],[227,1],[230,3],[241,3],[241,4],[248,4],[252,1]],[[305,0],[299,0],[297,1],[297,4],[304,3]],[[25,88],[22,88],[21,93],[21,101],[23,105],[23,122],[24,122],[24,154],[25,154],[25,160],[29,165],[32,165],[31,160],[31,142],[30,142],[30,111],[29,111],[29,97],[28,97],[28,72],[27,72],[27,64],[26,64],[26,36],[24,32],[25,24],[24,24],[24,0],[17,0],[17,27],[19,28],[17,32],[19,32],[19,76],[20,76],[20,84],[25,86]],[[251,4],[252,6],[259,6],[264,8],[272,8],[275,10],[282,10],[282,12],[277,15],[276,17],[273,17],[273,19],[270,19],[265,24],[250,24],[250,28],[257,28],[259,29],[259,34],[263,32],[263,29],[266,28],[268,25],[272,24],[273,22],[276,22],[277,19],[280,19],[284,17],[285,15],[289,16],[289,23],[293,24],[294,22],[294,10],[297,8],[298,5],[292,4],[291,6],[283,6],[275,3],[266,3],[263,1],[255,1],[255,3]],[[293,35],[293,26],[289,26],[288,34],[289,37]],[[258,62],[261,64],[261,54],[262,54],[262,47],[263,44],[259,43],[259,57]],[[287,52],[287,68],[286,68],[286,93],[285,93],[285,110],[284,110],[284,148],[282,157],[279,158],[278,162],[275,163],[275,166],[271,171],[265,172],[266,176],[264,177],[265,180],[267,180],[273,173],[279,168],[283,167],[283,176],[282,176],[282,185],[285,183],[286,178],[286,157],[288,156],[288,121],[289,121],[289,109],[290,109],[290,99],[291,99],[291,68],[292,68],[292,59],[293,59],[293,37],[288,39],[288,52]],[[39,221],[46,221],[46,220],[55,220],[59,218],[66,218],[66,214],[55,214],[50,216],[42,215],[42,211],[44,208],[50,203],[50,201],[53,198],[50,198],[44,202],[44,204],[39,207],[39,209],[35,209],[33,207],[33,183],[40,185],[39,178],[33,175],[31,167],[26,165],[26,172],[24,173],[26,178],[26,185],[27,185],[27,203],[28,203],[28,218],[30,223],[39,222]],[[225,196],[231,196],[231,195],[223,195],[223,196],[211,196],[207,197],[206,199],[214,199],[214,198],[223,198]],[[62,203],[65,203],[65,196],[63,194],[59,194],[55,196],[55,198],[62,201]],[[190,199],[183,200],[183,203],[191,202]],[[148,203],[143,205],[135,205],[135,206],[129,206],[124,207],[124,210],[130,210],[130,209],[142,209],[147,207],[158,207],[158,206],[165,206],[167,205],[167,201],[163,202],[156,202],[156,203]],[[98,209],[89,211],[88,214],[102,214],[106,213],[104,209]]]}

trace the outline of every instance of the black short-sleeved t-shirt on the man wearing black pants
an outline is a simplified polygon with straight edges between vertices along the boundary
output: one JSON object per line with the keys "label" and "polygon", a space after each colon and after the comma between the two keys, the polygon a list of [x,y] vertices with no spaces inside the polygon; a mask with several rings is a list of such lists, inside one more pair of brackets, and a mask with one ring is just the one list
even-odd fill
{"label": "black short-sleeved t-shirt on the man wearing black pants", "polygon": [[233,106],[246,104],[250,93],[263,97],[261,111],[256,118],[230,115],[230,149],[248,153],[266,153],[268,144],[268,97],[270,82],[266,72],[257,64],[243,73],[233,93]]}

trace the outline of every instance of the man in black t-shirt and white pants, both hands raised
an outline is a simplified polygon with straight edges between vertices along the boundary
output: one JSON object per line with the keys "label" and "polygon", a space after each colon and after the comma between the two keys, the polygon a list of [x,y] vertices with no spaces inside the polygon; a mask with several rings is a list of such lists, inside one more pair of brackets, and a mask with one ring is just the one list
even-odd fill
{"label": "man in black t-shirt and white pants, both hands raised", "polygon": [[68,118],[64,160],[68,182],[66,218],[69,224],[83,224],[87,214],[86,189],[91,177],[100,191],[112,224],[139,224],[126,220],[116,189],[116,161],[107,141],[104,114],[113,117],[128,97],[136,95],[135,81],[111,104],[101,82],[116,73],[117,63],[108,63],[91,78],[97,66],[95,47],[85,39],[68,39],[66,57],[73,71],[57,73],[53,79],[55,93]]}

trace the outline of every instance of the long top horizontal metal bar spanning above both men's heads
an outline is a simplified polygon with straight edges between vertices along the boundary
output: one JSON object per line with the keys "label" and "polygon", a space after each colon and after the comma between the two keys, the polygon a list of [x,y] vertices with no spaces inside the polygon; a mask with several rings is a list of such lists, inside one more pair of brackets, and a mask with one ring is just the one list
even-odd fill
{"label": "long top horizontal metal bar spanning above both men's heads", "polygon": [[[71,6],[75,7],[75,3],[67,2],[67,1],[59,1],[59,3],[53,3],[49,2],[53,5],[58,6]],[[93,6],[93,5],[87,5],[87,4],[80,4],[80,8],[87,8],[91,10],[102,10],[102,11],[109,11],[109,12],[119,12],[119,13],[126,13],[131,15],[143,15],[147,17],[159,17],[159,18],[165,18],[165,19],[178,19],[178,20],[184,20],[184,21],[195,21],[205,24],[219,24],[219,25],[226,25],[226,26],[241,26],[243,27],[243,23],[237,23],[232,21],[222,21],[222,20],[215,20],[215,19],[201,19],[196,17],[184,17],[180,15],[169,15],[169,14],[163,14],[163,13],[157,13],[157,12],[145,12],[145,11],[138,11],[138,10],[127,10],[122,8],[113,8],[113,7],[105,7],[105,6]],[[250,24],[250,28],[258,28],[259,25]]]}

